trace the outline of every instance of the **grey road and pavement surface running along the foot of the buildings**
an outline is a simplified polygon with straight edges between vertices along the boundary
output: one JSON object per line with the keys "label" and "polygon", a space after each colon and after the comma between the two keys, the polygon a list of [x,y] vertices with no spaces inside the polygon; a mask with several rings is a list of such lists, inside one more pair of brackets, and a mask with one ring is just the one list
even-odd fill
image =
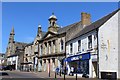
{"label": "grey road and pavement surface running along the foot of the buildings", "polygon": [[[1,73],[1,71],[0,71]],[[47,73],[44,72],[20,72],[20,71],[3,71],[4,75],[0,75],[0,79],[2,80],[64,80],[64,76],[62,77],[57,76],[55,79],[54,74],[51,74],[51,77],[48,77]],[[7,73],[7,74],[6,74]],[[98,80],[98,79],[90,79],[90,78],[78,78],[76,79],[75,76],[67,77],[65,80]]]}

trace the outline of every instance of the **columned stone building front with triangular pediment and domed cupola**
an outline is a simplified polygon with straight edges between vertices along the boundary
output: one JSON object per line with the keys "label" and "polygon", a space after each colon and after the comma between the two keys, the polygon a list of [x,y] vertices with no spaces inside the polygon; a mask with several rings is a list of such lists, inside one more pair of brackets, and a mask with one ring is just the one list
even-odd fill
{"label": "columned stone building front with triangular pediment and domed cupola", "polygon": [[55,71],[56,67],[62,66],[65,56],[65,32],[59,32],[57,17],[52,14],[49,17],[48,32],[39,40],[39,62],[42,71]]}

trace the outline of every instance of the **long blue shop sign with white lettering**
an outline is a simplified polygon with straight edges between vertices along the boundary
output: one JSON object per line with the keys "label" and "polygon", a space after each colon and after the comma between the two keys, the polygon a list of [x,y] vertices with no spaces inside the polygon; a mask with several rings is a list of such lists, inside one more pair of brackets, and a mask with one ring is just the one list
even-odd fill
{"label": "long blue shop sign with white lettering", "polygon": [[72,62],[72,61],[76,61],[76,60],[86,60],[86,59],[90,59],[90,52],[84,53],[84,54],[70,56],[70,57],[66,58],[65,61]]}

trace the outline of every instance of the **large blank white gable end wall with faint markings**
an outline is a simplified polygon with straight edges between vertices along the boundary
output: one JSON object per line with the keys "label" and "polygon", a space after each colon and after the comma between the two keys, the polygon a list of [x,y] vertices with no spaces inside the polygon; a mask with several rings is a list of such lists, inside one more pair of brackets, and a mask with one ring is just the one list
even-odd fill
{"label": "large blank white gable end wall with faint markings", "polygon": [[100,72],[118,72],[118,13],[99,28],[98,35]]}

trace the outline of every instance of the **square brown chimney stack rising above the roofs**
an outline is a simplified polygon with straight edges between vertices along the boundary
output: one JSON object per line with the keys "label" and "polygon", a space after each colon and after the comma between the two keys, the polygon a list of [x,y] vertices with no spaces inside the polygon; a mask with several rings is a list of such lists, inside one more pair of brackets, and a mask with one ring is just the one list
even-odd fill
{"label": "square brown chimney stack rising above the roofs", "polygon": [[85,12],[81,13],[81,22],[83,27],[90,25],[91,23],[91,15]]}

